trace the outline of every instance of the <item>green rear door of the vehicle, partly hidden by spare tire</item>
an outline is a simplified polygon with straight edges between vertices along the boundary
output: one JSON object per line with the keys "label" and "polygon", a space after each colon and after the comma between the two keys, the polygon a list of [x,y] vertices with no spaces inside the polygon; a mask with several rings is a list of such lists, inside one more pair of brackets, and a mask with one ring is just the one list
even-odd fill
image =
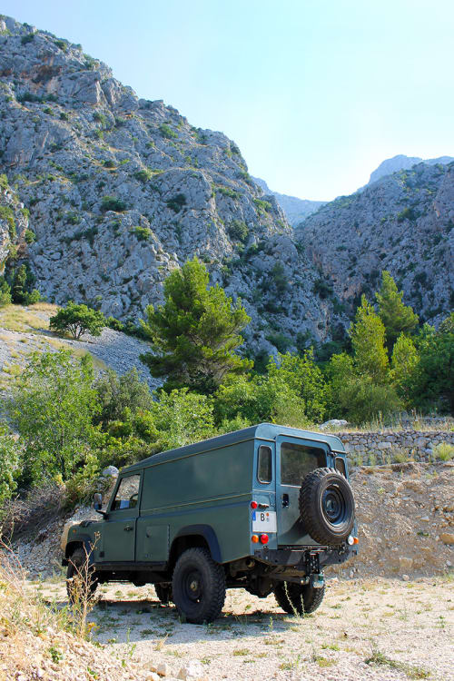
{"label": "green rear door of the vehicle, partly hidden by spare tire", "polygon": [[279,546],[312,545],[300,518],[302,479],[327,466],[328,446],[310,439],[280,435],[276,442],[276,509]]}

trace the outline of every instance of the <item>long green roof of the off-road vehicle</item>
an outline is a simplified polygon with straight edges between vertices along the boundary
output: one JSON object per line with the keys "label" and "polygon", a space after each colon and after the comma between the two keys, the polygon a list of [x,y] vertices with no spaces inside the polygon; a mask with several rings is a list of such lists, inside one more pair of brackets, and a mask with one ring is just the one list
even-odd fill
{"label": "long green roof of the off-road vehicle", "polygon": [[181,459],[182,457],[191,456],[192,454],[200,454],[203,451],[210,451],[211,449],[221,449],[229,445],[238,444],[250,439],[264,439],[275,441],[279,435],[288,435],[292,438],[313,439],[314,442],[323,442],[327,444],[332,450],[341,453],[345,452],[345,448],[341,439],[335,435],[328,433],[314,432],[311,430],[301,430],[298,428],[288,428],[287,426],[280,426],[277,423],[259,423],[250,428],[243,428],[242,430],[234,430],[232,433],[225,433],[225,435],[218,435],[215,438],[203,439],[201,442],[195,442],[193,445],[186,445],[178,449],[169,449],[159,454],[137,461],[132,466],[122,469],[122,475],[132,470],[143,469],[147,466],[155,466],[164,461],[171,461],[173,459]]}

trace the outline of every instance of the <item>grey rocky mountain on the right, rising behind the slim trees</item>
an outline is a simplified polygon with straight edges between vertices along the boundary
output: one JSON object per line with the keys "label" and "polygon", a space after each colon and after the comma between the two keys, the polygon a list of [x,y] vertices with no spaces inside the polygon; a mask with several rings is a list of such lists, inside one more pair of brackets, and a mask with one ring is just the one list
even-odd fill
{"label": "grey rocky mountain on the right, rising behind the slim trees", "polygon": [[454,163],[418,163],[327,203],[296,231],[348,307],[389,270],[422,321],[454,307]]}

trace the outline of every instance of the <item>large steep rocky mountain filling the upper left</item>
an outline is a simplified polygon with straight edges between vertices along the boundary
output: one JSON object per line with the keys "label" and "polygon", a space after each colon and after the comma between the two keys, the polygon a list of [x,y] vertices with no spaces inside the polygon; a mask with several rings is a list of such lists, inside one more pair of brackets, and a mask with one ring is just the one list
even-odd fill
{"label": "large steep rocky mountain filling the upper left", "polygon": [[196,254],[242,297],[254,351],[291,346],[298,332],[328,338],[320,274],[224,134],[139,99],[81,45],[7,17],[0,111],[0,173],[35,239],[6,266],[26,260],[49,301],[137,320]]}

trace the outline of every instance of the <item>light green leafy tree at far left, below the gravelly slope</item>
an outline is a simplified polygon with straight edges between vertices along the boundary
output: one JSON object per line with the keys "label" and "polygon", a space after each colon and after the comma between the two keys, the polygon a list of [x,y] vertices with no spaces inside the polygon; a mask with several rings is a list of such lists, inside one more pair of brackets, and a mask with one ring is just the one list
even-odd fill
{"label": "light green leafy tree at far left, below the gravelly slope", "polygon": [[9,403],[24,442],[24,483],[57,474],[66,480],[84,459],[98,410],[93,380],[88,356],[74,360],[68,350],[31,355]]}

